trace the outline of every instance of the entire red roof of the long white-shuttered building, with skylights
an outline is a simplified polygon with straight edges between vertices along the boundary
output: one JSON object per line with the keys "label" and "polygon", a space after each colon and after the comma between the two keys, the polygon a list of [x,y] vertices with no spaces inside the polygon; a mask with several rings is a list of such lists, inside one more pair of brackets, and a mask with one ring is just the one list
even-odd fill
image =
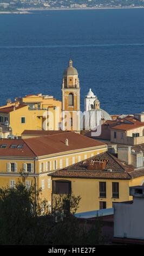
{"label": "entire red roof of the long white-shuttered building, with skylights", "polygon": [[[68,139],[68,146],[66,139]],[[0,156],[45,156],[70,150],[106,146],[105,143],[75,132],[63,132],[27,139],[0,139],[0,144],[8,144],[6,148],[0,148]],[[24,147],[11,149],[11,144],[24,144]]]}

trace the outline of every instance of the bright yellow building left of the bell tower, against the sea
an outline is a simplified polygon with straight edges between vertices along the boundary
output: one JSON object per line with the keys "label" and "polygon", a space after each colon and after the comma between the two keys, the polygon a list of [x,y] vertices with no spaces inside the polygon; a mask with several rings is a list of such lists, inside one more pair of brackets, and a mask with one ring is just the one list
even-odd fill
{"label": "bright yellow building left of the bell tower, against the sea", "polygon": [[49,95],[28,95],[0,108],[0,122],[8,121],[12,135],[24,130],[58,130],[61,121],[61,101]]}

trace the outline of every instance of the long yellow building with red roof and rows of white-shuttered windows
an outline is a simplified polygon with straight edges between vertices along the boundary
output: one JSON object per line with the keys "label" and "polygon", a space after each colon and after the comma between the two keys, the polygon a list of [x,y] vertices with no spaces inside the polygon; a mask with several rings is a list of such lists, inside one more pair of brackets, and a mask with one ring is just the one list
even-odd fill
{"label": "long yellow building with red roof and rows of white-shuttered windows", "polygon": [[48,173],[107,150],[107,145],[75,132],[24,139],[0,139],[0,187],[12,187],[28,173],[26,186],[42,188],[42,199],[51,204]]}

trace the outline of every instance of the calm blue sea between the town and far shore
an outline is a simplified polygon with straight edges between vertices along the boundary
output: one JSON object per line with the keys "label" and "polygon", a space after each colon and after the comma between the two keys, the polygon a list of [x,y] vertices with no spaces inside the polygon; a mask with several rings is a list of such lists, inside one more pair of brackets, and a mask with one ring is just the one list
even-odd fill
{"label": "calm blue sea between the town and far shore", "polygon": [[109,114],[144,111],[144,9],[0,15],[0,105],[27,94],[61,100],[69,57],[81,110],[89,88]]}

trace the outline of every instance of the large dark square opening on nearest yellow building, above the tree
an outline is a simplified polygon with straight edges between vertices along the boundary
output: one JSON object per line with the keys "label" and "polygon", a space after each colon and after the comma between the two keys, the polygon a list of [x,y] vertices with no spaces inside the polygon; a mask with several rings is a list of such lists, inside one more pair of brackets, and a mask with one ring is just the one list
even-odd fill
{"label": "large dark square opening on nearest yellow building, above the tree", "polygon": [[71,193],[71,181],[53,180],[53,193],[69,194]]}

